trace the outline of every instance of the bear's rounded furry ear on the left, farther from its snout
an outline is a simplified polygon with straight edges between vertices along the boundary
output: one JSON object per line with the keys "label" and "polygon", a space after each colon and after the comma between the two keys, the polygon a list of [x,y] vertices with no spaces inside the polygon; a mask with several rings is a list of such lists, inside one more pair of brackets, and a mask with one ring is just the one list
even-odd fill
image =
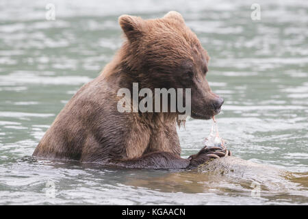
{"label": "bear's rounded furry ear on the left, farther from its snout", "polygon": [[136,40],[142,36],[142,18],[124,14],[118,18],[118,23],[129,40]]}

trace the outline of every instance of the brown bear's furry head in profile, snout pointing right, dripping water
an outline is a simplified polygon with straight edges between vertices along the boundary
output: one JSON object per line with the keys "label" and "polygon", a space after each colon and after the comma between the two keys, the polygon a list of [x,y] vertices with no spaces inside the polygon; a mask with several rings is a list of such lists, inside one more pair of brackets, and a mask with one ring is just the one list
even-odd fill
{"label": "brown bear's furry head in profile, snout pointing right, dripping water", "polygon": [[130,77],[146,88],[191,88],[192,118],[209,119],[220,112],[223,99],[211,92],[205,78],[209,55],[181,14],[149,20],[123,15],[119,23],[127,39],[122,62]]}

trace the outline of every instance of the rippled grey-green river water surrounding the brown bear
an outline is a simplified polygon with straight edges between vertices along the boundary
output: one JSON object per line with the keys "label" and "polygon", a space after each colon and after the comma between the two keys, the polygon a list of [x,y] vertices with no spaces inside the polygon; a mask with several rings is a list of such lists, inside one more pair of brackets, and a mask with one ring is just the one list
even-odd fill
{"label": "rippled grey-green river water surrounding the brown bear", "polygon": [[[308,203],[308,4],[279,1],[1,1],[0,204]],[[36,161],[38,141],[71,96],[120,47],[121,14],[183,14],[209,52],[208,81],[224,97],[216,116],[233,155],[297,172],[292,189],[200,172],[119,170]],[[182,156],[198,152],[211,121],[179,129]],[[264,170],[266,171],[266,170]]]}

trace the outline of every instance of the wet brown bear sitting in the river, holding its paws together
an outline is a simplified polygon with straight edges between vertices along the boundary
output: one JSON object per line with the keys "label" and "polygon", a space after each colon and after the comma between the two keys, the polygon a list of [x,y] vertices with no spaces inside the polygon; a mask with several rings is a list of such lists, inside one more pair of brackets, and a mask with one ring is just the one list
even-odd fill
{"label": "wet brown bear sitting in the river, holding its paws together", "polygon": [[[192,168],[228,151],[201,149],[180,157],[180,112],[119,112],[120,88],[190,88],[191,116],[210,119],[223,99],[205,79],[209,56],[178,12],[143,20],[118,19],[123,46],[101,75],[86,83],[57,115],[34,151],[47,159],[75,159],[126,168]],[[132,103],[131,103],[132,104]]]}

